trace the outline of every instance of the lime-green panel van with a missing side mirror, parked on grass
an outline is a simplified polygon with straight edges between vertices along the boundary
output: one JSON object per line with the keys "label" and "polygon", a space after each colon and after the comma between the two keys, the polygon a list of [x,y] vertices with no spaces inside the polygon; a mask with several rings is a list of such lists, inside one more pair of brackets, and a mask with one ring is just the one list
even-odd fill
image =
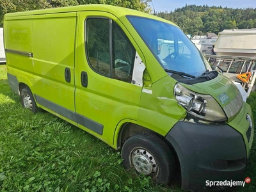
{"label": "lime-green panel van with a missing side mirror, parked on grass", "polygon": [[252,109],[172,22],[102,4],[8,13],[4,49],[24,108],[121,148],[125,168],[160,184],[178,168],[192,191],[244,180]]}

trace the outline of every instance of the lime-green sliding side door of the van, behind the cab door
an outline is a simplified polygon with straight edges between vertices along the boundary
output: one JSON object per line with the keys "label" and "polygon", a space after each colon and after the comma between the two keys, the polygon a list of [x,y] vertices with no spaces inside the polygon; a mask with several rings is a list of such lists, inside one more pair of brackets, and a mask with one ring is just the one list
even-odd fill
{"label": "lime-green sliding side door of the van, behind the cab door", "polygon": [[75,110],[75,34],[75,12],[33,16],[33,93],[40,106],[63,116]]}

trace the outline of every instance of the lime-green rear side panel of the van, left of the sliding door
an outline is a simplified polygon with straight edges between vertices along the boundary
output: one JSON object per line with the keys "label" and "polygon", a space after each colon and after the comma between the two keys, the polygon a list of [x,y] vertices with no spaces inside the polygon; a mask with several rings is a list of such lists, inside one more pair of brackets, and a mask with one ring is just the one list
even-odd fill
{"label": "lime-green rear side panel of the van, left of the sliding door", "polygon": [[31,16],[5,17],[4,20],[6,63],[8,74],[13,77],[8,81],[15,93],[19,93],[19,83],[32,86],[34,82],[33,59],[29,56],[32,52],[32,22]]}

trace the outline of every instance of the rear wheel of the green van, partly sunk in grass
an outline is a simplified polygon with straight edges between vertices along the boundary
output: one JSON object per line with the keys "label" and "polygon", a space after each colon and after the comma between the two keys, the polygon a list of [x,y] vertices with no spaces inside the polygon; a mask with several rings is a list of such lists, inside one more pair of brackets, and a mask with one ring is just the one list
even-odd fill
{"label": "rear wheel of the green van, partly sunk in grass", "polygon": [[40,111],[40,108],[36,106],[33,94],[31,93],[28,87],[25,87],[21,90],[20,101],[23,108],[30,109],[33,113]]}

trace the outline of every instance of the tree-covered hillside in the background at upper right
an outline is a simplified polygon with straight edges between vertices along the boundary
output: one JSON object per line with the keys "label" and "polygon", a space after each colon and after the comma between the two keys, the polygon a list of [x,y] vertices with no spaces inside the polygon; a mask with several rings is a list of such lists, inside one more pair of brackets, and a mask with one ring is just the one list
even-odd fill
{"label": "tree-covered hillside in the background at upper right", "polygon": [[186,4],[173,12],[159,12],[156,15],[174,22],[184,33],[191,35],[205,35],[207,32],[218,35],[223,29],[256,28],[256,8],[234,9]]}

